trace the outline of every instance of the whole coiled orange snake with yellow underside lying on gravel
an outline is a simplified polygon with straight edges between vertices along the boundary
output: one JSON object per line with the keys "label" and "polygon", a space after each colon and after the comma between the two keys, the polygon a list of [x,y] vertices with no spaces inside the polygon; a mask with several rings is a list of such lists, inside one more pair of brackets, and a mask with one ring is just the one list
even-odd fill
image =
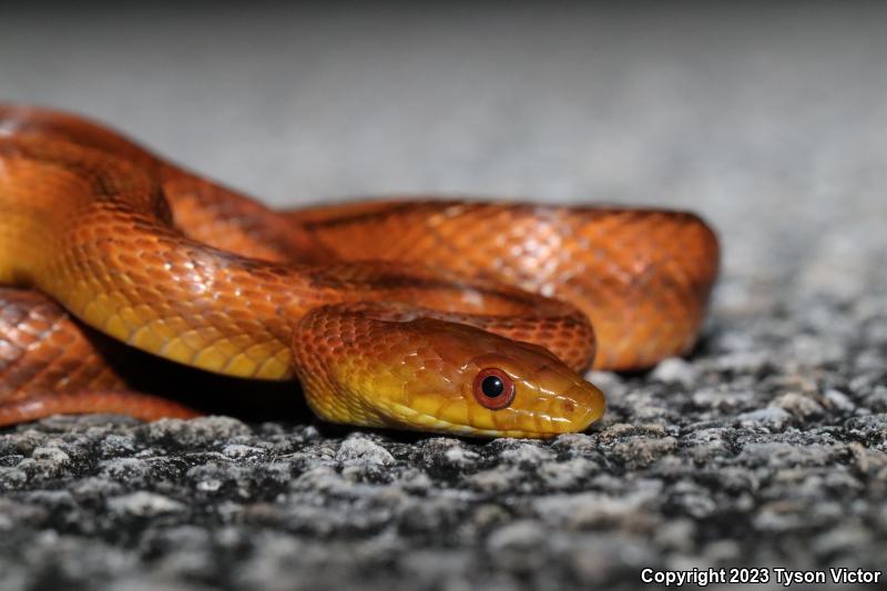
{"label": "whole coiled orange snake with yellow underside lying on gravel", "polygon": [[84,116],[0,104],[0,425],[197,414],[133,389],[106,338],[292,381],[334,424],[579,432],[606,406],[588,369],[692,349],[718,262],[686,211],[426,195],[273,210]]}

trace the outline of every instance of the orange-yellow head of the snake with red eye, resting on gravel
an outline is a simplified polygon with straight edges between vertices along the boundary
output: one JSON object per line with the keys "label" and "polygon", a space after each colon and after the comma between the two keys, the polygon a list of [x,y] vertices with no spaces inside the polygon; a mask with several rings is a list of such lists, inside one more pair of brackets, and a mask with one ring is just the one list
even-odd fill
{"label": "orange-yellow head of the snake with red eye, resting on gravel", "polygon": [[333,422],[547,438],[604,411],[601,390],[547,349],[434,317],[326,306],[299,323],[294,355],[308,404]]}

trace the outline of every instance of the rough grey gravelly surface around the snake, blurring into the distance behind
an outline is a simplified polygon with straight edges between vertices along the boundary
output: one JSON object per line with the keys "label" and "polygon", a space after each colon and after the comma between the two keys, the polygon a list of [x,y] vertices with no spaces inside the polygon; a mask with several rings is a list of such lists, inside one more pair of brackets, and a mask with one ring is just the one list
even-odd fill
{"label": "rough grey gravelly surface around the snake, blurring into the distance behind", "polygon": [[4,99],[91,113],[273,203],[687,206],[725,253],[697,350],[592,376],[609,411],[589,434],[102,416],[0,432],[0,588],[628,589],[643,568],[884,568],[886,17],[0,14]]}

